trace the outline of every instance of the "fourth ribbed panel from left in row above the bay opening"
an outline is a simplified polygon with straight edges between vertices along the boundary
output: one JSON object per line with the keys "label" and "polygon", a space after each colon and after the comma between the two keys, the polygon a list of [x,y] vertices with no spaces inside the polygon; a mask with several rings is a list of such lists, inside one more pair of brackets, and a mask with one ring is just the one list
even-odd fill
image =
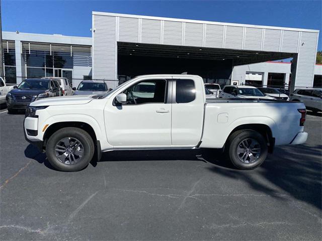
{"label": "fourth ribbed panel from left in row above the bay opening", "polygon": [[184,45],[202,47],[203,24],[186,23],[185,25]]}

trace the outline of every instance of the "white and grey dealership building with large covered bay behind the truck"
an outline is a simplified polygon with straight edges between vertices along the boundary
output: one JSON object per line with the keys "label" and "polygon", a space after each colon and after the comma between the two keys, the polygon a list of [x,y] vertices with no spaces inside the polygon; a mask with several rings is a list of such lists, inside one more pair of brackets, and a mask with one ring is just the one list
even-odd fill
{"label": "white and grey dealership building with large covered bay behind the truck", "polygon": [[318,33],[93,12],[92,38],[3,32],[6,81],[62,76],[75,85],[93,78],[114,88],[141,74],[186,72],[221,85],[311,87],[320,81]]}

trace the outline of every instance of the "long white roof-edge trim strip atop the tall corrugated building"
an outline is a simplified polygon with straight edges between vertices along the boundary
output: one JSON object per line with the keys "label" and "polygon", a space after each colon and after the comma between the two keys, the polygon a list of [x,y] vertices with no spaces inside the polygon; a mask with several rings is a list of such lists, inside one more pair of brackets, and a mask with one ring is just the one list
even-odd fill
{"label": "long white roof-edge trim strip atop the tall corrugated building", "polygon": [[226,25],[226,26],[250,27],[250,28],[261,28],[261,29],[278,29],[278,30],[319,33],[319,30],[315,30],[315,29],[298,29],[298,28],[286,28],[286,27],[274,27],[274,26],[262,26],[262,25],[250,25],[250,24],[234,24],[234,23],[222,23],[222,22],[211,22],[211,21],[201,21],[201,20],[153,17],[153,16],[132,15],[132,14],[105,13],[105,12],[96,12],[96,11],[93,11],[92,15],[138,18],[138,19],[142,18],[142,19],[153,19],[153,20],[166,20],[166,21],[173,21],[173,22],[200,23],[200,24],[213,24],[213,25]]}

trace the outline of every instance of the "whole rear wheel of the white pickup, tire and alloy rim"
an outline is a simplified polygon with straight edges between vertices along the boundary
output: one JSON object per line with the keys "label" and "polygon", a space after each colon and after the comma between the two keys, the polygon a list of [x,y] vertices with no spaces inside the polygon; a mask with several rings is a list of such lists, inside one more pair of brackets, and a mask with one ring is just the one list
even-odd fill
{"label": "whole rear wheel of the white pickup, tire and alloy rim", "polygon": [[240,130],[229,137],[226,151],[236,168],[252,170],[265,161],[268,147],[260,133],[253,130]]}

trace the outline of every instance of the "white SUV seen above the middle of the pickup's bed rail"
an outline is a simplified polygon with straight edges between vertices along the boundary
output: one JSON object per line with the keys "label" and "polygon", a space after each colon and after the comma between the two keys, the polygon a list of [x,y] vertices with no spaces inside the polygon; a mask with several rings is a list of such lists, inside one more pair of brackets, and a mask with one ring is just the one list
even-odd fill
{"label": "white SUV seen above the middle of the pickup's bed rail", "polygon": [[263,94],[258,88],[249,85],[225,85],[219,94],[219,98],[275,99]]}

